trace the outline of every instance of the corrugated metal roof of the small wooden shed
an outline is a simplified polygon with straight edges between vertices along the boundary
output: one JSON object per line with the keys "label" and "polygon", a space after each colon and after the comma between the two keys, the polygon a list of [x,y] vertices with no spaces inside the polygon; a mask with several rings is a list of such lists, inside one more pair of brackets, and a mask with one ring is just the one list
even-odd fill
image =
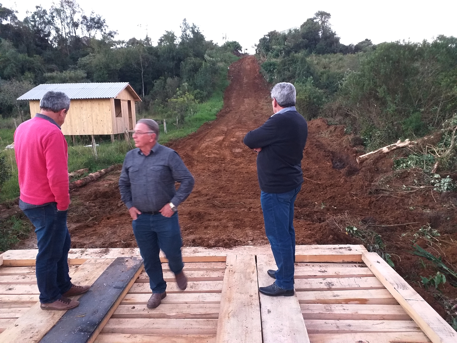
{"label": "corrugated metal roof of the small wooden shed", "polygon": [[40,100],[47,91],[64,92],[70,99],[114,98],[128,85],[128,82],[46,83],[36,86],[17,100]]}

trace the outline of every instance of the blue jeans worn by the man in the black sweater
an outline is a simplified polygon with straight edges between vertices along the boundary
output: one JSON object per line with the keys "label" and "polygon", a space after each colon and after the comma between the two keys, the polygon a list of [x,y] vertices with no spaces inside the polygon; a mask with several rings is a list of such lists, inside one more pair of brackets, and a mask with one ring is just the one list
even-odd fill
{"label": "blue jeans worn by the man in the black sweater", "polygon": [[293,289],[295,263],[295,229],[293,228],[293,203],[302,186],[287,193],[260,193],[265,233],[270,241],[278,270],[276,285]]}

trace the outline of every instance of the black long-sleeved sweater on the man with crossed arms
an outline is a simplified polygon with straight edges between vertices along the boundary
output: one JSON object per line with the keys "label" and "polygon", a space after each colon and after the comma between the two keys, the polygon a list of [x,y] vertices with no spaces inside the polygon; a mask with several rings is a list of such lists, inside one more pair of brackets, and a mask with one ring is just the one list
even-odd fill
{"label": "black long-sleeved sweater on the man with crossed arms", "polygon": [[278,113],[244,137],[250,149],[262,148],[257,156],[260,189],[286,193],[303,183],[302,159],[308,124],[297,111]]}

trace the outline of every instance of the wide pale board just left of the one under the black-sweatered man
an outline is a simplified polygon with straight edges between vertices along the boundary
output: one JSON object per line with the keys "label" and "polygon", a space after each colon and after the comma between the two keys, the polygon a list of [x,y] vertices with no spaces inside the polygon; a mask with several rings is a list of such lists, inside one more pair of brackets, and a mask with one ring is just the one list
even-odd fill
{"label": "wide pale board just left of the one under the black-sweatered man", "polygon": [[254,255],[227,255],[217,343],[262,343]]}

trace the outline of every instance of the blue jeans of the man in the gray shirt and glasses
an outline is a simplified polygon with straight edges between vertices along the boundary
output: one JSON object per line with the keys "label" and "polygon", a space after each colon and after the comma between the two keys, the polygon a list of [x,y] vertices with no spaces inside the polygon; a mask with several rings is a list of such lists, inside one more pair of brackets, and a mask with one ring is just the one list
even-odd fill
{"label": "blue jeans of the man in the gray shirt and glasses", "polygon": [[140,214],[132,222],[133,234],[144,260],[144,270],[149,276],[152,293],[163,293],[167,288],[160,263],[160,249],[168,259],[173,273],[179,274],[184,268],[181,256],[181,229],[176,212],[170,218],[162,214]]}

